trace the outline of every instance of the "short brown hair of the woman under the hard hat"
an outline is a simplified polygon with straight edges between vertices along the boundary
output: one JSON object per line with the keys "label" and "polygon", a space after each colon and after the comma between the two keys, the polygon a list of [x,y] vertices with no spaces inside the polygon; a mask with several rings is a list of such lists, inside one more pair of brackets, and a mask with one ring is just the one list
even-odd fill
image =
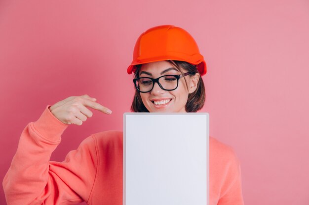
{"label": "short brown hair of the woman under the hard hat", "polygon": [[[196,69],[196,66],[188,62],[179,61],[179,60],[166,60],[166,61],[173,64],[182,74],[183,72],[180,69],[180,67],[185,69],[187,72],[190,72],[189,76],[193,76],[195,75],[195,73],[198,72]],[[139,71],[141,67],[142,67],[142,64],[136,65],[136,71],[134,73],[135,78],[139,77]],[[185,81],[186,81],[186,78],[185,78]],[[187,81],[186,81],[186,85],[188,88]],[[196,113],[198,110],[200,110],[204,106],[205,98],[206,98],[206,94],[205,94],[204,82],[203,82],[203,79],[199,77],[197,88],[195,89],[193,93],[189,93],[188,101],[186,104],[186,111],[188,113]],[[140,113],[140,112],[149,113],[149,111],[147,110],[147,108],[145,107],[142,101],[140,92],[137,91],[136,88],[135,88],[135,95],[133,98],[133,102],[131,105],[131,111],[136,112],[136,113]]]}

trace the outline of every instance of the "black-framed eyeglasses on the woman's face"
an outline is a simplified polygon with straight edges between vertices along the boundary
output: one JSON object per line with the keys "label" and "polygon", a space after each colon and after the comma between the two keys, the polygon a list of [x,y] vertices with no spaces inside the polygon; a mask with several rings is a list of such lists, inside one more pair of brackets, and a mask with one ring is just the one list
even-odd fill
{"label": "black-framed eyeglasses on the woman's face", "polygon": [[149,77],[142,77],[142,78],[134,78],[133,82],[135,88],[139,92],[150,92],[154,88],[154,83],[157,83],[160,88],[164,90],[174,90],[178,87],[178,80],[182,77],[189,75],[190,72],[180,74],[180,75],[163,75],[158,78],[149,78]]}

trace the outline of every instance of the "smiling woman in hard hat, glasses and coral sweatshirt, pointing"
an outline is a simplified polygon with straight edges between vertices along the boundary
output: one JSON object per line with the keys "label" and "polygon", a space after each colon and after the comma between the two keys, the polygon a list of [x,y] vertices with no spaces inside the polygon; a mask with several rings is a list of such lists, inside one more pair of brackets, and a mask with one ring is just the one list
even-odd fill
{"label": "smiling woman in hard hat, glasses and coral sweatshirt, pointing", "polygon": [[[204,104],[206,64],[192,36],[166,25],[138,38],[133,62],[134,112],[196,112]],[[68,124],[92,117],[88,108],[111,111],[88,95],[46,106],[20,137],[3,188],[8,205],[122,204],[122,132],[92,134],[66,156],[49,161]],[[88,108],[87,108],[88,107]],[[232,148],[210,137],[210,205],[242,205],[239,162]]]}

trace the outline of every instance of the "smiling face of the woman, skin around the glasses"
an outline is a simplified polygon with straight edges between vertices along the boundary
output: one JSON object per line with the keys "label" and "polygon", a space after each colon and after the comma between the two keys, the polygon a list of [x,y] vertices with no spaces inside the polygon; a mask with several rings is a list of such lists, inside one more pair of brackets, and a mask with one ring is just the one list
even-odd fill
{"label": "smiling face of the woman, skin around the glasses", "polygon": [[[181,68],[184,73],[187,71]],[[141,66],[140,77],[158,78],[162,75],[180,75],[181,72],[168,61],[157,61],[145,63]],[[197,77],[196,77],[197,76]],[[186,112],[186,103],[189,93],[192,93],[196,89],[199,74],[190,77],[182,77],[179,79],[178,87],[175,90],[167,91],[159,87],[157,83],[154,83],[154,88],[150,92],[140,93],[142,101],[151,113],[171,112],[181,113]],[[185,79],[188,83],[186,86]]]}

